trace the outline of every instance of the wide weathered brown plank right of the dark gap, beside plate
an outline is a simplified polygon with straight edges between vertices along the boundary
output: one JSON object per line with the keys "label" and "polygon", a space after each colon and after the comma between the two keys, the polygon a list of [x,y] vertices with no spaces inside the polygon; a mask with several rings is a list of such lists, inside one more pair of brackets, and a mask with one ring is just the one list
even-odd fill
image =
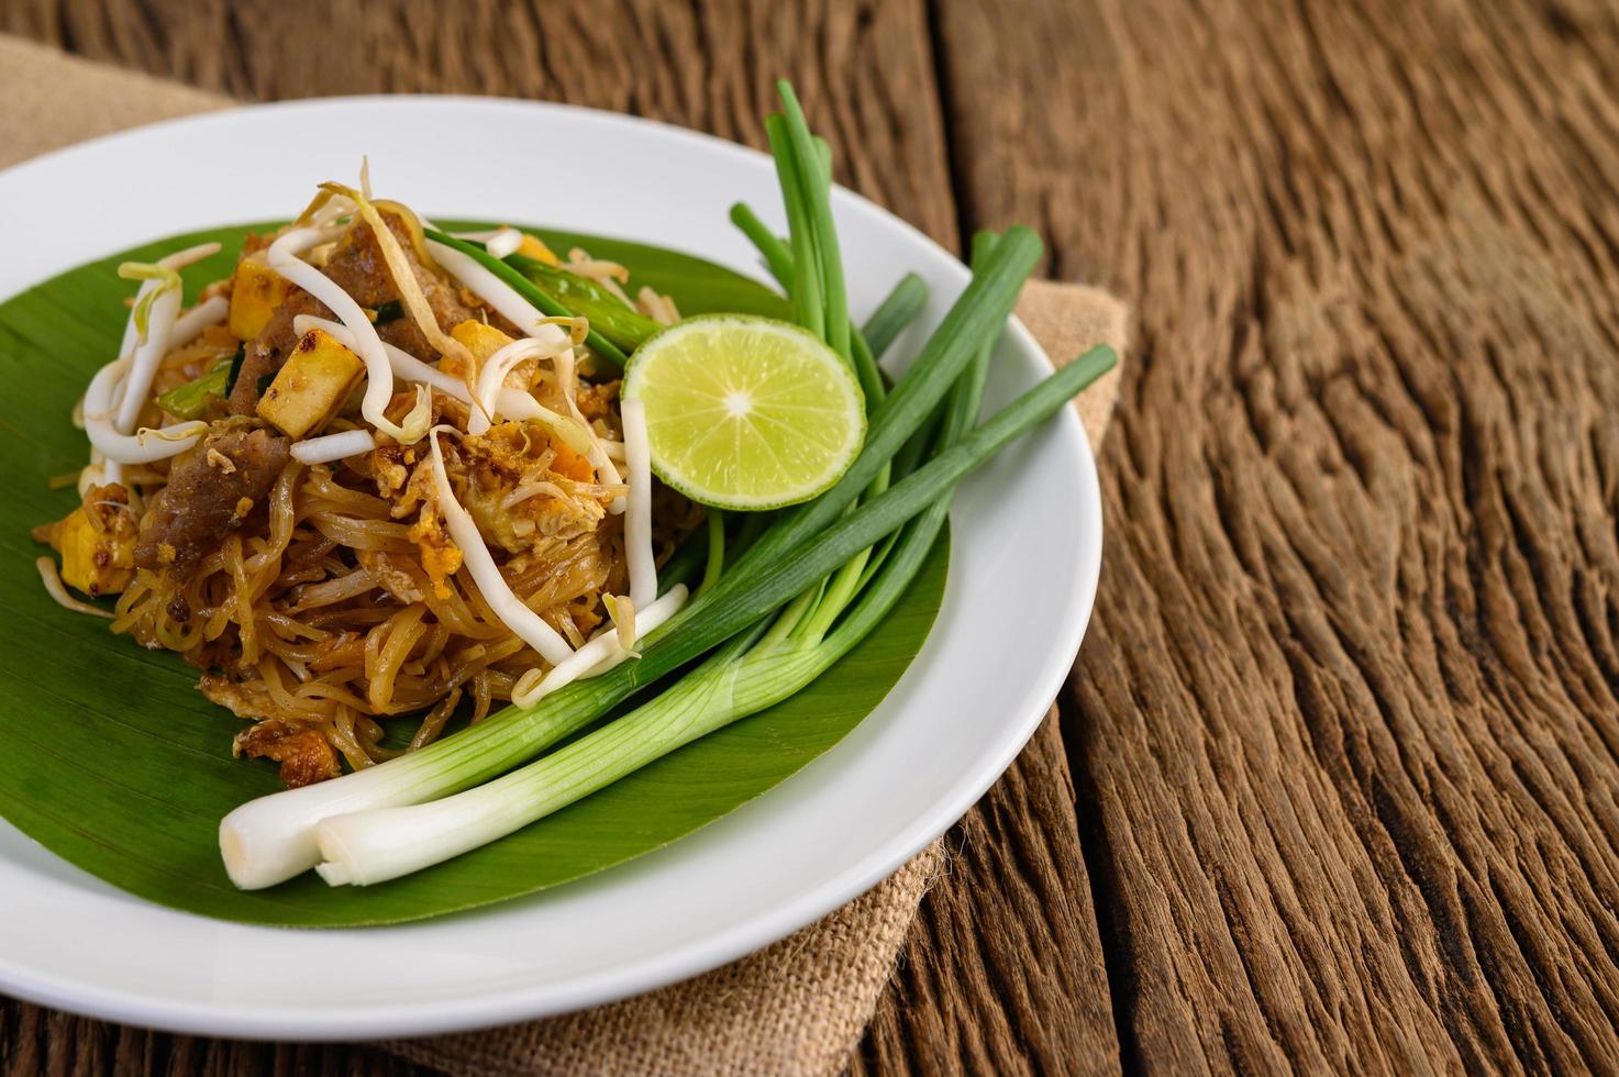
{"label": "wide weathered brown plank right of the dark gap, beside plate", "polygon": [[1613,8],[941,15],[963,215],[1140,314],[1064,727],[1127,1064],[1619,1071]]}

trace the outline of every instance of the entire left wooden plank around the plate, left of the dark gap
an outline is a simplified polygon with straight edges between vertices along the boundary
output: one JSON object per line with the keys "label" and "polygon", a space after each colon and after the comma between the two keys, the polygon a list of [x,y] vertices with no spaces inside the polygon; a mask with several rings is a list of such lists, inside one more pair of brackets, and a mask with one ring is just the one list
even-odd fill
{"label": "entire left wooden plank around the plate, left of the dark gap", "polygon": [[[306,32],[314,10],[327,28],[317,36]],[[840,180],[947,246],[958,240],[945,96],[921,3],[11,0],[0,31],[243,99],[487,92],[636,112],[750,144],[763,144],[759,117],[785,74],[839,146]],[[954,868],[924,905],[860,1069],[1117,1067],[1067,774],[1047,722],[952,832]],[[364,1046],[189,1040],[0,1009],[6,1074],[413,1072]]]}

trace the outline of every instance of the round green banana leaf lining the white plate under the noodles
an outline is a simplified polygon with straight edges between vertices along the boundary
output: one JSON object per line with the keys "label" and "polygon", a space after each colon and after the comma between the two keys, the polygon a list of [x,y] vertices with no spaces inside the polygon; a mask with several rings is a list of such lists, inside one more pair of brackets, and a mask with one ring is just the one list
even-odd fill
{"label": "round green banana leaf lining the white plate under the noodles", "polygon": [[[219,240],[225,251],[185,274],[189,301],[230,272],[248,232],[272,227],[173,236],[0,304],[0,460],[10,491],[0,504],[0,815],[24,834],[131,894],[202,915],[288,926],[421,920],[578,879],[690,834],[837,743],[905,672],[939,609],[945,541],[882,630],[780,706],[427,871],[364,889],[330,889],[312,875],[235,889],[219,860],[219,819],[278,789],[274,764],[232,758],[241,722],[198,693],[196,670],[178,656],[141,649],[104,620],[57,606],[34,568],[49,551],[29,528],[74,505],[71,489],[52,491],[47,479],[86,460],[70,413],[123,332],[133,285],[117,277],[118,262]],[[555,249],[576,245],[623,262],[631,282],[672,295],[688,314],[785,311],[761,285],[685,254],[538,232]]]}

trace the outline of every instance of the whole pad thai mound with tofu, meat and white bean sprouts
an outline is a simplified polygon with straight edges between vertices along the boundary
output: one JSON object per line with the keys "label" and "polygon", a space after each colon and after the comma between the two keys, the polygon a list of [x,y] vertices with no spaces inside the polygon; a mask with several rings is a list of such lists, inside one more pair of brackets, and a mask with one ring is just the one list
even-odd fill
{"label": "whole pad thai mound with tofu, meat and white bean sprouts", "polygon": [[[36,530],[60,556],[60,575],[40,559],[52,594],[100,615],[66,588],[117,596],[112,630],[199,669],[251,722],[236,753],[288,785],[536,698],[570,659],[589,672],[593,638],[627,654],[656,599],[633,593],[638,565],[701,521],[646,476],[633,489],[618,371],[586,319],[547,317],[366,188],[324,185],[189,308],[178,272],[217,245],[120,267],[141,285],[76,416],[81,504]],[[457,235],[678,317],[584,251]],[[385,747],[402,716],[408,747]]]}

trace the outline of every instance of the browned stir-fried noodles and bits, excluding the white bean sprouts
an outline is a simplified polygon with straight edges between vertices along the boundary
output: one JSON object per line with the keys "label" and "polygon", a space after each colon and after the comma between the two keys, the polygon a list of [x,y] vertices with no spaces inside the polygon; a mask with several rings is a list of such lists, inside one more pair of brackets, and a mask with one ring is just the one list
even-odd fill
{"label": "browned stir-fried noodles and bits, excluding the white bean sprouts", "polygon": [[[413,222],[400,220],[408,211],[389,214],[390,228],[408,238]],[[262,240],[249,241],[244,258],[262,246]],[[353,223],[324,267],[351,292],[369,290],[356,295],[368,306],[398,295],[382,259],[371,258],[374,249],[369,228]],[[458,334],[457,340],[479,332],[502,335],[499,330],[516,335],[431,262],[413,266],[445,330],[457,322],[461,329],[482,326],[473,324],[471,335]],[[233,322],[241,277],[238,269],[230,282],[207,292],[232,298]],[[159,368],[154,397],[198,377],[238,345],[248,348],[249,364],[254,348],[270,355],[275,342],[266,340],[290,334],[295,309],[324,314],[296,288],[280,303],[282,321],[272,319],[254,338],[214,327],[172,350]],[[643,296],[643,306],[661,313],[667,300]],[[672,306],[667,309],[672,316]],[[421,360],[448,358],[427,351],[421,334],[410,337],[413,329],[406,319],[395,337]],[[259,394],[282,361],[285,355],[269,363],[269,374],[257,374]],[[589,369],[588,355],[581,369]],[[557,411],[567,407],[547,363],[529,363],[512,377],[541,403]],[[243,392],[240,384],[236,392]],[[584,381],[578,390],[581,413],[604,437],[620,436],[615,397],[617,382]],[[355,400],[358,394],[350,400],[358,407]],[[413,400],[413,392],[397,394],[390,418],[398,421]],[[361,424],[350,405],[334,413],[324,432]],[[623,594],[628,586],[622,517],[606,512],[622,486],[606,483],[588,460],[539,426],[497,423],[471,436],[466,403],[436,392],[432,405],[436,423],[460,431],[440,439],[457,500],[476,520],[512,591],[578,646],[602,627],[604,596]],[[128,466],[123,483],[91,483],[81,510],[39,528],[37,538],[63,551],[68,583],[91,594],[118,593],[113,632],[180,653],[202,670],[199,688],[209,700],[256,722],[238,735],[238,751],[278,761],[288,784],[321,781],[340,773],[338,758],[359,769],[397,755],[398,748],[382,745],[390,717],[424,714],[410,742],[421,747],[458,708],[478,722],[512,696],[523,674],[546,669],[492,612],[448,539],[426,442],[400,445],[377,432],[371,452],[304,465],[288,458],[280,444],[287,439],[277,441],[274,426],[240,407],[235,395],[210,408],[201,445],[157,465]],[[141,418],[152,428],[173,421],[155,403]],[[172,481],[181,468],[188,470],[186,483],[240,484],[248,483],[254,458],[283,463],[262,497],[238,500],[215,541],[196,551],[160,541],[154,546],[154,536],[165,538],[164,523],[191,526],[185,513],[193,507],[173,504],[191,489],[180,491],[181,483]],[[175,491],[167,502],[165,489]],[[81,517],[78,525],[74,517]],[[662,560],[695,526],[699,510],[659,491],[654,518]],[[94,547],[91,568],[71,562],[81,546]],[[151,549],[159,551],[155,560]],[[91,583],[84,583],[86,575]]]}

